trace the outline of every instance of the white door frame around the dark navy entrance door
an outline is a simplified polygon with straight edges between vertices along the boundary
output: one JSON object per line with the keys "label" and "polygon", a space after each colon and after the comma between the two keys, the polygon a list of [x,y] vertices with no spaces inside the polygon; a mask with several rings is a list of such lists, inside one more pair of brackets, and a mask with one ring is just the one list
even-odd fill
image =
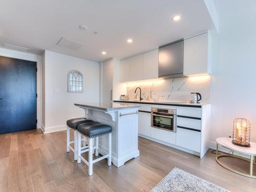
{"label": "white door frame around the dark navy entrance door", "polygon": [[37,99],[36,99],[36,128],[41,129],[41,64],[42,64],[42,57],[41,55],[35,55],[31,53],[25,53],[20,51],[14,51],[10,49],[4,49],[0,48],[0,56],[3,57],[11,57],[16,59],[23,59],[23,60],[29,60],[29,61],[35,61],[36,62],[36,93],[37,93]]}

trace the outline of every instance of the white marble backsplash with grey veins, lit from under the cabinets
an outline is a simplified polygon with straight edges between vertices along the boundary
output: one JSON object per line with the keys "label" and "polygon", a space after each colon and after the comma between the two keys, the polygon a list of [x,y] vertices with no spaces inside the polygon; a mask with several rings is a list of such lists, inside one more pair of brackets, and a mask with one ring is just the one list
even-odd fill
{"label": "white marble backsplash with grey veins, lit from under the cabinets", "polygon": [[189,101],[190,93],[198,92],[202,95],[202,102],[210,102],[210,84],[211,76],[203,75],[131,82],[126,86],[130,100],[139,98],[139,90],[136,94],[134,91],[140,87],[144,101]]}

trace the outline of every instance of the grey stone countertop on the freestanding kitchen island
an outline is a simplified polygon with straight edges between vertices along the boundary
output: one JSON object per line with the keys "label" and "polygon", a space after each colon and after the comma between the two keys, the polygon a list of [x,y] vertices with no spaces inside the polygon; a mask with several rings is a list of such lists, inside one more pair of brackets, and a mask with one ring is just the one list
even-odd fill
{"label": "grey stone countertop on the freestanding kitchen island", "polygon": [[74,103],[75,106],[82,108],[96,109],[102,111],[117,111],[128,108],[139,108],[138,104],[129,104],[129,103],[115,103],[115,102],[95,102],[95,103]]}

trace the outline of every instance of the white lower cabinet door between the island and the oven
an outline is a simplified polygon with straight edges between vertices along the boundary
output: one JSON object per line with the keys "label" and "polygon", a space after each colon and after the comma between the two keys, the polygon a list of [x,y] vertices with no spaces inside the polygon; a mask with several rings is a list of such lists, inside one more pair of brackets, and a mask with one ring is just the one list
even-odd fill
{"label": "white lower cabinet door between the island and the oven", "polygon": [[139,112],[138,133],[147,137],[151,136],[151,114]]}

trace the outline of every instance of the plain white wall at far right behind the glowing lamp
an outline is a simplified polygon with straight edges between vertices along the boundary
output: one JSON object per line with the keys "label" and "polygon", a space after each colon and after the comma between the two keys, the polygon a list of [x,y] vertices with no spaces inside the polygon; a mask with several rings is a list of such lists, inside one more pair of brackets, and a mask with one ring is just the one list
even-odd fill
{"label": "plain white wall at far right behind the glowing lamp", "polygon": [[232,133],[232,121],[251,122],[256,142],[256,1],[215,1],[220,34],[212,35],[211,141]]}

